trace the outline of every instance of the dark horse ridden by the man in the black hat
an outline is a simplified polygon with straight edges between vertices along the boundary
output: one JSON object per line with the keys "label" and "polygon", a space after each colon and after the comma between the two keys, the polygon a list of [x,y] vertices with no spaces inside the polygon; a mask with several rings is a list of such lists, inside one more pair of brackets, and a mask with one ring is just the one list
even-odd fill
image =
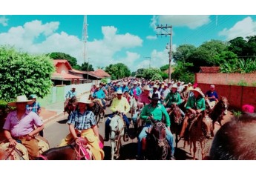
{"label": "dark horse ridden by the man in the black hat", "polygon": [[147,137],[142,139],[142,152],[144,159],[166,160],[171,159],[171,148],[166,140],[165,124],[154,121]]}

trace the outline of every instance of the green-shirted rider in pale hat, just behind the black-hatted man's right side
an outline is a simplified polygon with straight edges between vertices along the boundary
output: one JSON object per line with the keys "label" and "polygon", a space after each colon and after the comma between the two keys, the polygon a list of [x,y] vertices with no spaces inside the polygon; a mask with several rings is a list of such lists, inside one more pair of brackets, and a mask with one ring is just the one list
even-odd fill
{"label": "green-shirted rider in pale hat, just behind the black-hatted man's right side", "polygon": [[[166,96],[166,99],[164,99],[163,105],[165,106],[166,110],[169,112],[171,109],[173,109],[176,106],[179,106],[181,104],[180,99],[180,93],[177,92],[177,85],[173,85],[171,87],[171,92],[168,93]],[[180,109],[181,115],[184,117],[185,113],[183,110]]]}

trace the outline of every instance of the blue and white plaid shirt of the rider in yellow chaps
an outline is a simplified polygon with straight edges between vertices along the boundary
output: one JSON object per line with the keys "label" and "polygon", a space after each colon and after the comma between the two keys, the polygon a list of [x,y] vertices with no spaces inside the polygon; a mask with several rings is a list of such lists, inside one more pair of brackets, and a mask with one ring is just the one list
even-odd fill
{"label": "blue and white plaid shirt of the rider in yellow chaps", "polygon": [[75,110],[70,113],[68,124],[74,125],[76,130],[87,130],[96,125],[94,113],[91,110],[86,110],[85,113],[79,113],[79,110]]}

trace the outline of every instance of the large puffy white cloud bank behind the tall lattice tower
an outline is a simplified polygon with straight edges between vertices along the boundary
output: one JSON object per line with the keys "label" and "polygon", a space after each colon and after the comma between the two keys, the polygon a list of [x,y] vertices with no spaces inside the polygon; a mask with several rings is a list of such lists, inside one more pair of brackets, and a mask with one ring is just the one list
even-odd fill
{"label": "large puffy white cloud bank behind the tall lattice tower", "polygon": [[[23,26],[10,27],[7,33],[0,33],[0,44],[9,44],[28,53],[67,53],[75,57],[79,65],[87,62],[83,58],[84,43],[77,36],[68,35],[64,31],[57,33],[58,28],[59,22],[26,22]],[[141,47],[143,42],[139,36],[131,33],[118,34],[114,26],[102,27],[102,35],[102,39],[87,42],[86,58],[90,58],[89,62],[94,68],[113,64],[116,53],[132,47]],[[129,51],[126,51],[126,55],[122,62],[129,68],[140,58],[139,54]]]}

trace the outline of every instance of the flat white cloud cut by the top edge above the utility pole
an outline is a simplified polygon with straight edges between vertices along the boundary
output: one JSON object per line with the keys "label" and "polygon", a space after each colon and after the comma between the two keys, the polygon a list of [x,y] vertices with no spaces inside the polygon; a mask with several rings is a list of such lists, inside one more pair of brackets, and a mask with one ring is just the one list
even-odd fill
{"label": "flat white cloud cut by the top edge above the utility pole", "polygon": [[153,16],[151,19],[151,27],[154,30],[158,25],[172,25],[175,27],[189,27],[191,29],[195,29],[197,27],[201,27],[204,24],[208,24],[211,22],[210,16],[206,15],[163,15],[163,16]]}

